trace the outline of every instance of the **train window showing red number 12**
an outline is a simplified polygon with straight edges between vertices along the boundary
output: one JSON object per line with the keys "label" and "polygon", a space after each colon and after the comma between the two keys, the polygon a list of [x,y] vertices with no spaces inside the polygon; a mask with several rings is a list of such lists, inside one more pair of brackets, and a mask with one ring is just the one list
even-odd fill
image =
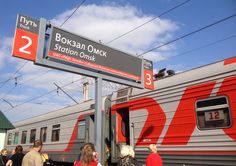
{"label": "train window showing red number 12", "polygon": [[227,128],[231,125],[230,107],[226,96],[197,101],[196,112],[199,129]]}

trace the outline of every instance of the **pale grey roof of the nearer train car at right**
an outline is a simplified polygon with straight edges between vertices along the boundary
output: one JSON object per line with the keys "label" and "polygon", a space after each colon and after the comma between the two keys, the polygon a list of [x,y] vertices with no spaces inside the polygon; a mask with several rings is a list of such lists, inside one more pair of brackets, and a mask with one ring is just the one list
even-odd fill
{"label": "pale grey roof of the nearer train car at right", "polygon": [[[212,79],[220,79],[225,77],[226,75],[235,75],[235,72],[236,56],[191,70],[180,72],[172,76],[166,76],[161,79],[157,79],[154,81],[154,91],[158,91],[159,93],[160,91],[168,91],[172,88],[183,88],[188,85],[204,83]],[[116,101],[118,92],[113,93],[113,101]],[[152,91],[148,89],[133,88],[132,92],[130,93],[130,97],[137,97],[141,93],[149,92]]]}

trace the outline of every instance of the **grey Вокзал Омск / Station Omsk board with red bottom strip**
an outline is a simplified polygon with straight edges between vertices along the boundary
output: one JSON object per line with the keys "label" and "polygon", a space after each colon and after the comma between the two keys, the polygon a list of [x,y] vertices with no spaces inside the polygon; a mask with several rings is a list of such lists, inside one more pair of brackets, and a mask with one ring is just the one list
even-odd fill
{"label": "grey \u0412\u043e\u043a\u0437\u0430\u043b \u041e\u043c\u0441\u043a / Station Omsk board with red bottom strip", "polygon": [[142,59],[57,27],[52,28],[47,59],[141,82]]}

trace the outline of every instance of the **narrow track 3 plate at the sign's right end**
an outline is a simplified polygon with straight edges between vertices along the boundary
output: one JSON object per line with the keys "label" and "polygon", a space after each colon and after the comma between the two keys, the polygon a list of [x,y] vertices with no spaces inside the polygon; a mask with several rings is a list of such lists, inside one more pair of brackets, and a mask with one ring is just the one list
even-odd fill
{"label": "narrow track 3 plate at the sign's right end", "polygon": [[144,88],[154,90],[153,82],[153,63],[152,61],[144,59]]}

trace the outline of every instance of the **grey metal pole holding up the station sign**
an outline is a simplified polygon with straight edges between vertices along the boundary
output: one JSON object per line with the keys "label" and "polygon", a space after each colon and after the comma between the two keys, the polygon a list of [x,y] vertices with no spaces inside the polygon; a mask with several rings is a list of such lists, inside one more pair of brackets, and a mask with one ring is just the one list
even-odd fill
{"label": "grey metal pole holding up the station sign", "polygon": [[95,80],[95,146],[99,153],[99,162],[102,161],[102,78]]}

